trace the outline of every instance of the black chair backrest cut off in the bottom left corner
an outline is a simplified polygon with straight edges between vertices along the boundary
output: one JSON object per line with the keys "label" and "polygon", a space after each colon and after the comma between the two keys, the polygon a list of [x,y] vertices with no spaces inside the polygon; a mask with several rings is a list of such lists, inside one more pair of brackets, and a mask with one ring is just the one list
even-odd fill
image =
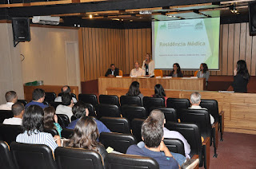
{"label": "black chair backrest cut off in the bottom left corner", "polygon": [[2,169],[14,169],[13,157],[10,154],[9,145],[0,140],[0,163]]}

